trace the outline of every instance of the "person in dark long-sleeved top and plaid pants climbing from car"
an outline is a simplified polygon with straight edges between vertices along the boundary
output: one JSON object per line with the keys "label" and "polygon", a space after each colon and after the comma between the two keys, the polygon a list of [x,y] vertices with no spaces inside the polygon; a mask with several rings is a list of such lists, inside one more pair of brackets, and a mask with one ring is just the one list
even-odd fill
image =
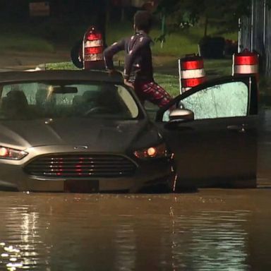
{"label": "person in dark long-sleeved top and plaid pants climbing from car", "polygon": [[114,73],[113,56],[120,51],[126,52],[124,64],[124,84],[135,90],[140,101],[145,100],[164,107],[171,96],[155,83],[152,68],[152,39],[148,36],[152,16],[148,11],[137,11],[133,18],[135,35],[115,42],[104,50],[104,63],[109,73]]}

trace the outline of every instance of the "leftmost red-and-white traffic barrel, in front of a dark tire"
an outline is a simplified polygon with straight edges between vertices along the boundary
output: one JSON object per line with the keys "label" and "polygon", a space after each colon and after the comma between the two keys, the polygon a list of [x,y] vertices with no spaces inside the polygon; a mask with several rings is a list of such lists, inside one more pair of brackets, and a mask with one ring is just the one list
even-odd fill
{"label": "leftmost red-and-white traffic barrel, in front of a dark tire", "polygon": [[92,26],[83,38],[83,68],[85,70],[104,68],[104,42],[102,33]]}

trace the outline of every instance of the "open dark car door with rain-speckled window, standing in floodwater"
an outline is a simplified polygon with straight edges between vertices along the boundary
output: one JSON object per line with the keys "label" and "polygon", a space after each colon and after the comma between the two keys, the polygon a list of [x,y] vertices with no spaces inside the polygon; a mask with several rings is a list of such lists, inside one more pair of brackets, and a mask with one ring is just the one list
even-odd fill
{"label": "open dark car door with rain-speckled window, standing in floodwater", "polygon": [[[175,154],[177,188],[256,185],[258,87],[252,76],[199,85],[159,109],[156,124]],[[169,125],[169,108],[193,121]]]}

